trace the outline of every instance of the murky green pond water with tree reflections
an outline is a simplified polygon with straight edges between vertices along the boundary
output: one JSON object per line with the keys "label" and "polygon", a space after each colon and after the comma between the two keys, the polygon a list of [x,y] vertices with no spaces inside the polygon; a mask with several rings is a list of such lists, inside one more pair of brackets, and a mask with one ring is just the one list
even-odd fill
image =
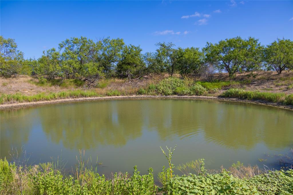
{"label": "murky green pond water with tree reflections", "polygon": [[[167,165],[159,146],[174,146],[174,165],[205,158],[209,169],[237,161],[277,167],[293,147],[293,112],[214,100],[104,100],[1,110],[1,158],[26,150],[29,164],[62,159],[76,164],[79,149],[96,157],[100,174],[154,174]],[[259,159],[264,159],[260,162]],[[61,161],[60,161],[61,163]],[[178,171],[176,173],[179,173]]]}

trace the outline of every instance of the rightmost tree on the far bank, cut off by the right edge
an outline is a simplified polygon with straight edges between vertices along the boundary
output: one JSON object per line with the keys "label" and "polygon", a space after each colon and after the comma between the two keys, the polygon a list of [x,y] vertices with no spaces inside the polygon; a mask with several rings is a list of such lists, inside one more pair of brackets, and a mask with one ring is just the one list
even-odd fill
{"label": "rightmost tree on the far bank, cut off by the right edge", "polygon": [[268,69],[274,69],[278,74],[283,70],[293,69],[293,41],[289,39],[277,39],[267,45],[264,59]]}

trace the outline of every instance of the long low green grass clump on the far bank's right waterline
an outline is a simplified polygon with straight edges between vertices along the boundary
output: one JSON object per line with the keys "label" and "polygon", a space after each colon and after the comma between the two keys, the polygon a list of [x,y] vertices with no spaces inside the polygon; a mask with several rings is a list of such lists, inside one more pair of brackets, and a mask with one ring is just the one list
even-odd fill
{"label": "long low green grass clump on the far bank's right waterline", "polygon": [[248,100],[265,100],[268,102],[284,102],[285,93],[270,93],[259,91],[245,91],[243,89],[228,89],[222,93],[224,97],[241,98]]}

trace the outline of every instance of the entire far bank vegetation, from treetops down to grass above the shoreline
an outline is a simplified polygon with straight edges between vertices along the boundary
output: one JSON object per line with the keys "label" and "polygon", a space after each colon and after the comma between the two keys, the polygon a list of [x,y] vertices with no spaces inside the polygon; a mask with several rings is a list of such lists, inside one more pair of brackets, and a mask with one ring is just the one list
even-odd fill
{"label": "entire far bank vegetation, from treetops down to grass above the shoreline", "polygon": [[[293,43],[235,37],[199,49],[157,43],[154,53],[123,39],[72,37],[39,59],[23,59],[1,36],[0,104],[130,95],[200,95],[293,105]],[[219,57],[221,56],[221,57]],[[271,71],[273,70],[273,71]]]}

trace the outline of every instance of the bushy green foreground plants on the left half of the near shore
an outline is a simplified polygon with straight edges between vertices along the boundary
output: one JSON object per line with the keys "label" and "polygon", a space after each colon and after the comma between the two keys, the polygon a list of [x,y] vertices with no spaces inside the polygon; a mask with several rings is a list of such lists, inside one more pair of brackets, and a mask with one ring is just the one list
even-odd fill
{"label": "bushy green foreground plants on the left half of the near shore", "polygon": [[[45,165],[45,166],[44,166]],[[146,194],[157,191],[154,184],[153,170],[140,175],[134,167],[132,176],[126,173],[115,173],[109,179],[104,175],[85,169],[79,177],[64,176],[54,169],[51,163],[33,167],[16,167],[6,159],[0,159],[0,194]],[[17,169],[17,170],[16,170]],[[18,179],[21,175],[21,181]]]}

